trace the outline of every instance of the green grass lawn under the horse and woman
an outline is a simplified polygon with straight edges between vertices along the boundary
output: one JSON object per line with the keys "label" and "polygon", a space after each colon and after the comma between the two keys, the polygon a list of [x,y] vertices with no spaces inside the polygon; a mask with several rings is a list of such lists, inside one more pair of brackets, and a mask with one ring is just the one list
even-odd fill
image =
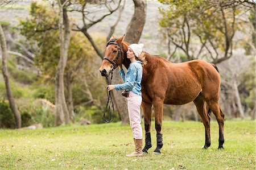
{"label": "green grass lawn under the horse and woman", "polygon": [[43,130],[0,130],[1,169],[255,169],[255,122],[225,121],[224,148],[219,151],[218,125],[211,122],[212,146],[204,145],[200,122],[163,122],[162,155],[154,123],[149,154],[133,151],[130,127],[118,123],[61,126]]}

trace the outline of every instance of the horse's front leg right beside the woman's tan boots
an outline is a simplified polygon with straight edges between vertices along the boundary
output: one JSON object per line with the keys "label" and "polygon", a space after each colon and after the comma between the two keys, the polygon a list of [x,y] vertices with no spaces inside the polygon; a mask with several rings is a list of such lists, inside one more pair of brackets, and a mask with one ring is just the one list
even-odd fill
{"label": "horse's front leg right beside the woman's tan boots", "polygon": [[151,144],[151,135],[150,135],[150,129],[151,129],[151,115],[152,115],[152,103],[146,103],[142,101],[142,109],[143,109],[143,115],[144,115],[144,128],[145,128],[145,146],[143,148],[143,152],[147,152],[149,148],[152,147]]}

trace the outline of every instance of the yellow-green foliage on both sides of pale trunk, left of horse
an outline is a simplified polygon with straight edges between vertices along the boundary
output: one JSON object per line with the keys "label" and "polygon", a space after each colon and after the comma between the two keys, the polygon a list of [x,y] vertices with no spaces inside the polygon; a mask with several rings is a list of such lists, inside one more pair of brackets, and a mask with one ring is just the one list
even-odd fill
{"label": "yellow-green foliage on both sides of pale trunk, left of horse", "polygon": [[[21,34],[26,36],[28,42],[38,44],[35,63],[40,71],[42,71],[42,76],[38,78],[40,81],[39,84],[44,84],[44,86],[49,85],[50,87],[53,84],[57,62],[59,60],[59,30],[56,29],[58,17],[53,9],[33,2],[31,3],[30,18],[20,20]],[[96,37],[96,39],[96,43],[103,44],[102,38],[99,39]],[[67,81],[71,81],[75,105],[79,104],[80,101],[88,101],[86,95],[81,95],[84,93],[83,79],[91,78],[88,75],[94,71],[94,66],[91,62],[95,62],[95,59],[93,59],[95,55],[92,46],[84,38],[84,35],[80,32],[71,32],[68,61],[65,68],[65,85],[67,85]],[[94,83],[97,81],[94,81]],[[53,102],[53,95],[46,96],[49,94],[47,88],[48,86],[40,88],[43,90],[41,91],[43,94],[40,94],[40,90],[38,90],[35,96],[47,98]]]}

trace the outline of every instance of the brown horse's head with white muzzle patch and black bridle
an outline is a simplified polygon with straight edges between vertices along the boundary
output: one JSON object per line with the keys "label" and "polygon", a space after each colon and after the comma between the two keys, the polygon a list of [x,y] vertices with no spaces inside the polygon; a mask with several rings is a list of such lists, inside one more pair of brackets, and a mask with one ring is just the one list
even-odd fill
{"label": "brown horse's head with white muzzle patch and black bridle", "polygon": [[112,36],[106,44],[104,58],[100,67],[101,76],[108,76],[118,65],[123,63],[122,40],[123,36],[118,39]]}

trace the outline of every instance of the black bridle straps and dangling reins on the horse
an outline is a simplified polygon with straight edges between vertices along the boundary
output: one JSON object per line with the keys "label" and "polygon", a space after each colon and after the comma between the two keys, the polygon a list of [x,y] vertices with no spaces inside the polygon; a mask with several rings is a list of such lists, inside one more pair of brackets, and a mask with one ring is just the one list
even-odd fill
{"label": "black bridle straps and dangling reins on the horse", "polygon": [[[123,53],[122,53],[122,46],[117,44],[117,43],[113,43],[113,42],[109,42],[109,44],[114,44],[114,45],[118,45],[119,47],[119,50],[118,50],[118,55],[117,55],[117,58],[115,59],[115,61],[112,61],[110,60],[108,57],[104,57],[103,60],[108,60],[112,65],[112,68],[110,69],[110,73],[111,73],[111,78],[110,78],[110,82],[108,81],[108,76],[106,76],[106,80],[107,80],[107,83],[108,85],[111,84],[112,82],[112,78],[113,78],[113,71],[114,71],[114,68],[115,68],[115,64],[117,64],[117,60],[119,59],[119,56],[120,56],[120,53],[121,53],[121,56],[122,56],[122,63],[123,63]],[[108,46],[107,45],[107,46]],[[106,102],[106,107],[105,107],[105,110],[104,110],[104,114],[103,114],[103,121],[105,123],[110,123],[113,121],[114,119],[114,103],[113,103],[113,99],[112,99],[112,96],[111,96],[111,91],[108,92],[108,88],[106,89],[106,92],[107,92],[107,96],[108,96],[108,100]],[[111,109],[111,105],[112,105],[112,109]],[[108,110],[109,109],[109,110]],[[108,110],[108,111],[107,111]],[[113,111],[113,112],[112,112]],[[106,114],[109,114],[109,117],[106,118]]]}

